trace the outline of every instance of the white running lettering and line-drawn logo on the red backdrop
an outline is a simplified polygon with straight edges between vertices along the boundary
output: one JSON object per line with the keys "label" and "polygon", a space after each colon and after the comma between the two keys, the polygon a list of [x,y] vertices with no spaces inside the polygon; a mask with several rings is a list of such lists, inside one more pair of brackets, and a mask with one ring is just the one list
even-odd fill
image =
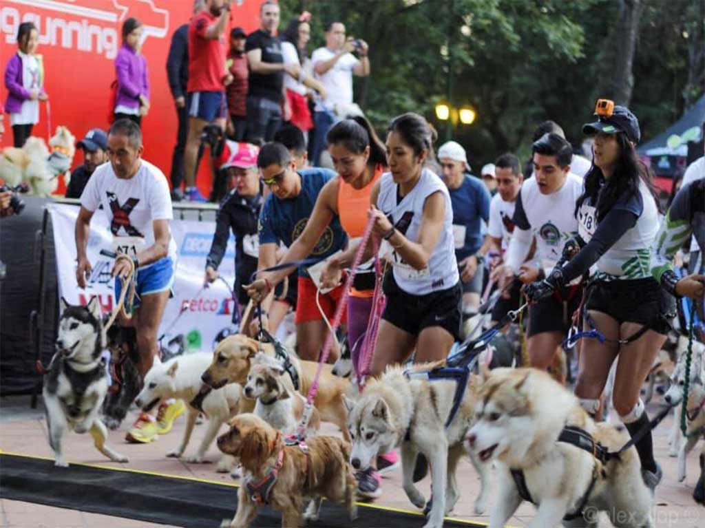
{"label": "white running lettering and line-drawn logo on the red backdrop", "polygon": [[115,59],[120,48],[120,27],[131,16],[143,24],[142,42],[150,36],[166,37],[169,13],[157,8],[154,1],[166,0],[4,0],[0,31],[5,42],[13,44],[20,23],[32,22],[39,28],[39,44]]}

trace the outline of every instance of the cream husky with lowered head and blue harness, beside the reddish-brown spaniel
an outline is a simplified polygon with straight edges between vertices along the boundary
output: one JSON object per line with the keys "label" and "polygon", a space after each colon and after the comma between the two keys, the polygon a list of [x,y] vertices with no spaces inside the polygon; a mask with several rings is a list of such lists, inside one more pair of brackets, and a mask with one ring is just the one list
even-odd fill
{"label": "cream husky with lowered head and blue harness, beside the reddish-brown spaniel", "polygon": [[[418,453],[429,460],[431,511],[426,528],[441,527],[443,515],[453,510],[460,498],[455,467],[465,452],[462,440],[472,422],[479,383],[477,376],[473,376],[455,417],[446,427],[453,407],[455,381],[416,377],[441,364],[417,364],[408,374],[403,367],[388,367],[379,380],[368,381],[360,398],[345,398],[353,443],[350,463],[355,469],[368,469],[377,455],[400,446],[404,491],[417,508],[424,508],[426,501],[413,484],[412,476]],[[489,493],[489,471],[474,457],[471,460],[482,481],[482,490],[475,501],[475,511],[479,514],[484,511]]]}

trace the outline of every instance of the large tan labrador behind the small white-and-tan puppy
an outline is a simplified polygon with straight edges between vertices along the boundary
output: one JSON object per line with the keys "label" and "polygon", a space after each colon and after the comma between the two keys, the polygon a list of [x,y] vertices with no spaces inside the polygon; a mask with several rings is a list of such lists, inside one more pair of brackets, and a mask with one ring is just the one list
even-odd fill
{"label": "large tan labrador behind the small white-and-tan puppy", "polygon": [[[254,363],[253,360],[260,346],[264,354],[269,357],[275,357],[274,345],[271,345],[271,343],[259,343],[259,341],[243,336],[240,333],[235,334],[235,336],[228,336],[218,343],[213,352],[213,362],[203,373],[201,379],[213,388],[220,388],[226,383],[240,383],[240,385],[245,386],[247,374],[250,374],[250,369]],[[299,360],[296,355],[291,353],[289,358],[300,380],[298,390],[302,394],[308,394],[316,375],[318,363]],[[333,376],[332,369],[332,365],[324,364],[314,405],[321,415],[321,420],[336,424],[343,432],[345,440],[350,441],[348,427],[346,426],[348,409],[343,403],[343,395],[348,391],[350,381]],[[244,398],[243,400],[247,401]],[[242,405],[240,411],[252,412],[255,408],[254,402],[248,402],[248,404]]]}

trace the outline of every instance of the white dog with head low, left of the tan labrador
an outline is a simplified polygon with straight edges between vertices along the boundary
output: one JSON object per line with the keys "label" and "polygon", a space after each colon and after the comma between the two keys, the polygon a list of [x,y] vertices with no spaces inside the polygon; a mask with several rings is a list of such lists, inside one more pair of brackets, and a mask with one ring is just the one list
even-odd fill
{"label": "white dog with head low, left of the tan labrador", "polygon": [[[178,398],[188,403],[186,429],[178,448],[167,453],[168,457],[180,457],[188,446],[193,426],[199,412],[203,412],[208,419],[208,428],[203,441],[194,456],[188,457],[186,462],[203,462],[209,446],[218,434],[221,425],[226,423],[238,412],[240,400],[240,386],[237,383],[213,389],[202,401],[202,409],[191,405],[199,394],[203,385],[201,374],[211,364],[213,355],[208,352],[194,352],[183,356],[174,357],[162,363],[158,357],[154,358],[152,368],[145,376],[145,387],[135,398],[135,404],[142,410],[150,410],[159,401],[168,398]],[[217,467],[218,472],[231,470],[233,460],[221,459]]]}

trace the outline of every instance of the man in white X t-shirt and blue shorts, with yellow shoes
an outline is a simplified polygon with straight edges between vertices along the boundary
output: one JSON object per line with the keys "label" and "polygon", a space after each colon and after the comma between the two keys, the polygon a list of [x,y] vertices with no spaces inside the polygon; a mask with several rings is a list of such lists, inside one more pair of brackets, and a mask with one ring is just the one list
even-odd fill
{"label": "man in white X t-shirt and blue shorts, with yellow shoes", "polygon": [[[121,318],[120,323],[135,326],[140,353],[137,369],[144,379],[152,368],[154,357],[159,354],[157,332],[171,296],[176,243],[169,229],[173,211],[166,177],[159,168],[142,159],[142,150],[142,133],[136,123],[128,119],[113,123],[106,151],[110,163],[96,168],[83,190],[75,242],[78,256],[76,280],[80,288],[85,288],[91,272],[86,254],[90,221],[102,204],[110,222],[113,250],[127,254],[135,266],[135,313],[133,319]],[[123,286],[121,278],[126,278],[129,271],[129,262],[116,260],[111,271],[115,277],[116,300]],[[183,412],[183,403],[180,403],[180,409]],[[157,428],[154,418],[142,413],[127,439],[137,442],[156,440]]]}

